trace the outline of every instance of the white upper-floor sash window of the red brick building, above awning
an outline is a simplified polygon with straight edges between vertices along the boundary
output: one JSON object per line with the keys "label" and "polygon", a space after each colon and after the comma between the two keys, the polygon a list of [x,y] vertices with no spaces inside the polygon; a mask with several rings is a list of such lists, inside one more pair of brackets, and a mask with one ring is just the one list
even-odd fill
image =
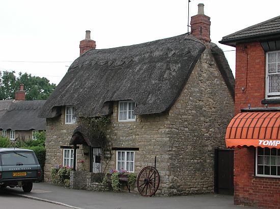
{"label": "white upper-floor sash window of the red brick building, above awning", "polygon": [[266,98],[280,96],[280,51],[266,53]]}

